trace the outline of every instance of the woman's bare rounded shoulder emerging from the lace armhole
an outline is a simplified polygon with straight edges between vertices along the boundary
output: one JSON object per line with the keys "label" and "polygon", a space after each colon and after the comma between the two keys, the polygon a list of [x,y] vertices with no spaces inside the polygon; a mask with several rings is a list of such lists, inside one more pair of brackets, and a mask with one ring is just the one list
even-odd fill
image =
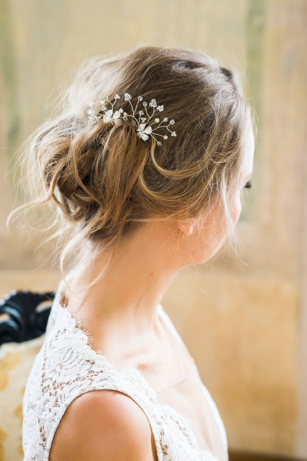
{"label": "woman's bare rounded shoulder emerging from the lace armhole", "polygon": [[93,390],[74,399],[57,427],[50,461],[154,461],[151,428],[130,397]]}

